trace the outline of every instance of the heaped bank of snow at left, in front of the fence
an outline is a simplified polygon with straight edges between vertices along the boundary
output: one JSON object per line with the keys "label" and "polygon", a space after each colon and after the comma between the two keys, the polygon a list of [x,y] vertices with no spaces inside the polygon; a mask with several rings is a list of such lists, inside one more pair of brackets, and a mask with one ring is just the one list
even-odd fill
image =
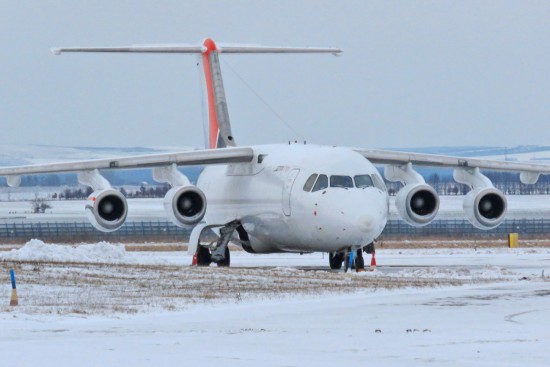
{"label": "heaped bank of snow at left, in front of the fence", "polygon": [[2,260],[118,263],[126,257],[126,250],[124,245],[107,242],[69,246],[31,240],[20,249],[1,256]]}

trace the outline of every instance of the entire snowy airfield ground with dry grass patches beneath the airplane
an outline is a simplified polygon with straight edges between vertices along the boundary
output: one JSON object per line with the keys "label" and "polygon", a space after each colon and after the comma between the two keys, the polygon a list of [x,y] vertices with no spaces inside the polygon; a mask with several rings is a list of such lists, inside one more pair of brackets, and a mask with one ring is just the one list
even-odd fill
{"label": "entire snowy airfield ground with dry grass patches beneath the airplane", "polygon": [[[547,366],[550,249],[377,251],[374,272],[322,254],[184,252],[31,241],[1,252],[6,366]],[[7,269],[19,277],[10,308]],[[316,270],[315,270],[316,269]],[[202,291],[201,291],[202,290]]]}

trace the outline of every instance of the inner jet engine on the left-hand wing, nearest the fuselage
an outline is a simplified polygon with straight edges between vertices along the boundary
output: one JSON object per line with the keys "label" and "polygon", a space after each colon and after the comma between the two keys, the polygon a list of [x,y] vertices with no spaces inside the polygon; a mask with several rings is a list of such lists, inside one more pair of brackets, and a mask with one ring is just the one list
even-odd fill
{"label": "inner jet engine on the left-hand wing, nearest the fuselage", "polygon": [[206,196],[196,186],[173,187],[164,197],[164,210],[178,227],[193,226],[206,213]]}

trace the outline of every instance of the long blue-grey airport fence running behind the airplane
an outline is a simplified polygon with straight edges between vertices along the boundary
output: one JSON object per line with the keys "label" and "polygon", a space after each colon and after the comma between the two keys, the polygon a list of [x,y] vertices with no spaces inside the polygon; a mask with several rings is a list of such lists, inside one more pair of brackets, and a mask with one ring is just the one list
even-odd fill
{"label": "long blue-grey airport fence running behind the airplane", "polygon": [[[550,234],[550,219],[509,219],[499,227],[483,231],[473,227],[467,220],[435,220],[431,224],[416,228],[400,220],[390,220],[382,237],[502,237],[508,233],[520,236],[542,236]],[[119,230],[104,233],[88,222],[6,222],[0,223],[0,239],[3,242],[24,242],[33,238],[49,241],[187,241],[191,231],[179,228],[167,221],[130,221]]]}

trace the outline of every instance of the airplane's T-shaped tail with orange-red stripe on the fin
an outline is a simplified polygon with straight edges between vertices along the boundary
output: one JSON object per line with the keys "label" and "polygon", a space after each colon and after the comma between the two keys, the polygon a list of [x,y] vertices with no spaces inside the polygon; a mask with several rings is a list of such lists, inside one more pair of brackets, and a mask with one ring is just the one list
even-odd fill
{"label": "airplane's T-shaped tail with orange-red stripe on the fin", "polygon": [[135,45],[128,47],[68,47],[52,48],[55,55],[65,52],[135,52],[135,53],[189,53],[200,54],[204,71],[208,111],[207,148],[225,148],[236,146],[231,133],[229,110],[223,88],[219,54],[250,53],[329,53],[337,55],[342,50],[318,47],[266,47],[255,45],[216,45],[208,38],[202,45]]}

